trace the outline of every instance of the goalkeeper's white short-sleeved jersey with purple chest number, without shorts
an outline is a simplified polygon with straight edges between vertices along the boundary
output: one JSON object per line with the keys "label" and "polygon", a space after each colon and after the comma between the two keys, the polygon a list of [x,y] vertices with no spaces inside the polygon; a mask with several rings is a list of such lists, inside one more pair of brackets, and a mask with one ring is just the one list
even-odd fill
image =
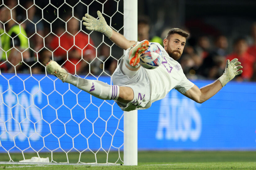
{"label": "goalkeeper's white short-sleeved jersey with purple chest number, without shorts", "polygon": [[168,53],[159,43],[154,44],[161,49],[163,62],[153,70],[145,69],[148,72],[151,83],[151,103],[163,99],[173,88],[184,94],[194,86],[194,83],[186,78],[181,65],[169,57]]}

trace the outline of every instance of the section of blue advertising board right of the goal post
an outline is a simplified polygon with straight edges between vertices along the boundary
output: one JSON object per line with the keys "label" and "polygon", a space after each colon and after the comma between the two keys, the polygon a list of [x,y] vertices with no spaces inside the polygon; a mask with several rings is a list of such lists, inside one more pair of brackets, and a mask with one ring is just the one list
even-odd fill
{"label": "section of blue advertising board right of the goal post", "polygon": [[[212,82],[193,81],[198,87]],[[138,148],[256,150],[255,95],[256,83],[229,82],[198,104],[171,90],[138,113]]]}

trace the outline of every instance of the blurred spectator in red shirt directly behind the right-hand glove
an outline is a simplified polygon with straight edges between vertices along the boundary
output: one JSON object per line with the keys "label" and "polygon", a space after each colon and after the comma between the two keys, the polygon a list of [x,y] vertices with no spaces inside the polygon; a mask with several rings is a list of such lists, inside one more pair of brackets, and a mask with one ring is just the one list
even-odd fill
{"label": "blurred spectator in red shirt directly behind the right-hand glove", "polygon": [[254,56],[247,52],[248,44],[245,38],[238,38],[234,41],[234,49],[233,53],[227,56],[227,59],[230,61],[234,58],[238,58],[238,60],[243,65],[243,73],[241,74],[241,78],[243,80],[249,80],[253,74],[253,64],[255,61]]}

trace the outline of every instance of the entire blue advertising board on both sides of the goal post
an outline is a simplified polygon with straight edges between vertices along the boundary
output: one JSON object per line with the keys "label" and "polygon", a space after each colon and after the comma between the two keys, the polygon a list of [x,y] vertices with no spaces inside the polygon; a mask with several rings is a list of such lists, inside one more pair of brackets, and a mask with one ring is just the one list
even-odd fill
{"label": "entire blue advertising board on both sides of the goal post", "polygon": [[[255,94],[256,83],[230,82],[198,104],[171,90],[138,111],[138,149],[256,150]],[[114,101],[52,75],[0,75],[0,152],[123,150],[123,130],[123,111]]]}

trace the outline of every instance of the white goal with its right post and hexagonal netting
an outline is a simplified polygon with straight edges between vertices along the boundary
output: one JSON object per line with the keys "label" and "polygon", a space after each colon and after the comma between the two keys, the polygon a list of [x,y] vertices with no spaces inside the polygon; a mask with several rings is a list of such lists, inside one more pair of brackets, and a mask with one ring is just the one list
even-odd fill
{"label": "white goal with its right post and hexagonal netting", "polygon": [[[4,26],[0,36],[9,37],[14,44],[14,38],[22,35],[28,40],[28,47],[20,49],[17,46],[10,46],[6,50],[3,46],[5,41],[1,43],[3,39],[0,38],[0,58],[2,53],[7,58],[0,61],[0,164],[21,164],[18,162],[21,160],[22,164],[26,164],[26,161],[33,156],[36,157],[36,160],[49,157],[50,164],[137,165],[137,110],[123,112],[114,101],[97,99],[70,84],[62,83],[61,80],[48,74],[45,63],[39,61],[43,50],[50,52],[52,60],[57,59],[55,56],[57,49],[50,49],[46,45],[50,36],[57,37],[58,48],[66,51],[67,58],[62,66],[70,61],[68,54],[71,48],[66,50],[65,47],[62,47],[60,37],[67,32],[67,23],[71,18],[82,23],[81,19],[74,15],[75,10],[87,9],[87,12],[91,14],[96,13],[91,9],[100,7],[98,10],[102,11],[103,16],[106,16],[107,23],[110,23],[115,31],[122,33],[123,30],[124,36],[128,40],[137,40],[137,0],[91,0],[86,1],[88,4],[82,0],[77,0],[77,2],[50,0],[45,6],[42,5],[43,1],[42,3],[40,1],[40,5],[39,0],[32,0],[30,7],[24,5],[26,1],[17,0],[17,4],[11,4],[13,6],[4,4],[5,2],[2,1],[0,8],[11,11],[11,19],[0,21],[0,24]],[[70,5],[70,2],[73,5]],[[104,13],[104,6],[108,7],[111,3],[116,4],[116,11]],[[124,11],[120,11],[122,3],[124,3]],[[42,16],[42,19],[36,22],[28,14],[28,10],[32,9],[32,6],[35,6]],[[64,16],[63,13],[67,9],[70,9],[72,13],[71,18],[65,20],[62,15]],[[105,11],[107,12],[107,10]],[[25,19],[17,21],[14,16],[16,13],[25,13]],[[47,15],[49,15],[48,18]],[[124,24],[120,26],[115,20],[118,20],[121,15],[124,17]],[[14,20],[14,24],[19,26],[17,29],[20,29],[20,33],[15,37],[8,35],[8,30],[5,28],[10,20]],[[33,24],[35,29],[32,35],[25,35],[21,31],[21,28],[25,29],[28,21]],[[38,25],[43,22],[48,25],[45,28],[47,27],[46,29],[49,30],[45,35],[42,32],[38,33]],[[53,25],[56,26],[60,22],[64,23],[65,32],[57,35],[53,31]],[[87,34],[88,46],[95,50],[96,57],[88,62],[83,58],[82,52],[80,61],[88,64],[89,71],[88,74],[85,73],[81,76],[81,72],[79,74],[76,72],[78,64],[74,64],[75,74],[81,78],[98,79],[112,84],[111,74],[106,69],[106,63],[109,59],[118,63],[122,54],[119,57],[116,56],[117,52],[114,48],[117,47],[106,36],[97,32],[84,31],[82,28],[83,26],[79,26],[79,31]],[[74,37],[73,46],[83,51],[87,45],[83,49],[76,45],[75,36],[77,35],[78,33],[72,35]],[[91,39],[94,40],[92,37],[100,37],[98,40],[100,42],[96,42],[94,45],[91,42]],[[36,49],[36,45],[31,43],[34,38],[43,40],[41,49],[39,47]],[[105,60],[98,54],[102,45],[110,49],[110,55]],[[14,64],[15,62],[8,58],[13,49],[20,54],[20,63],[18,64]],[[34,55],[29,61],[25,58],[27,51]],[[95,66],[96,61],[103,66],[100,66],[102,72],[94,75],[91,69]],[[3,67],[5,65],[13,70],[7,73],[4,70],[6,67]],[[18,70],[20,65],[27,70],[25,72]],[[41,74],[32,71],[37,66],[43,68]],[[106,75],[105,78],[103,75]],[[76,154],[75,162],[70,159],[73,153]],[[101,154],[100,158],[98,158],[99,154]],[[99,161],[99,159],[104,159],[104,161]]]}

